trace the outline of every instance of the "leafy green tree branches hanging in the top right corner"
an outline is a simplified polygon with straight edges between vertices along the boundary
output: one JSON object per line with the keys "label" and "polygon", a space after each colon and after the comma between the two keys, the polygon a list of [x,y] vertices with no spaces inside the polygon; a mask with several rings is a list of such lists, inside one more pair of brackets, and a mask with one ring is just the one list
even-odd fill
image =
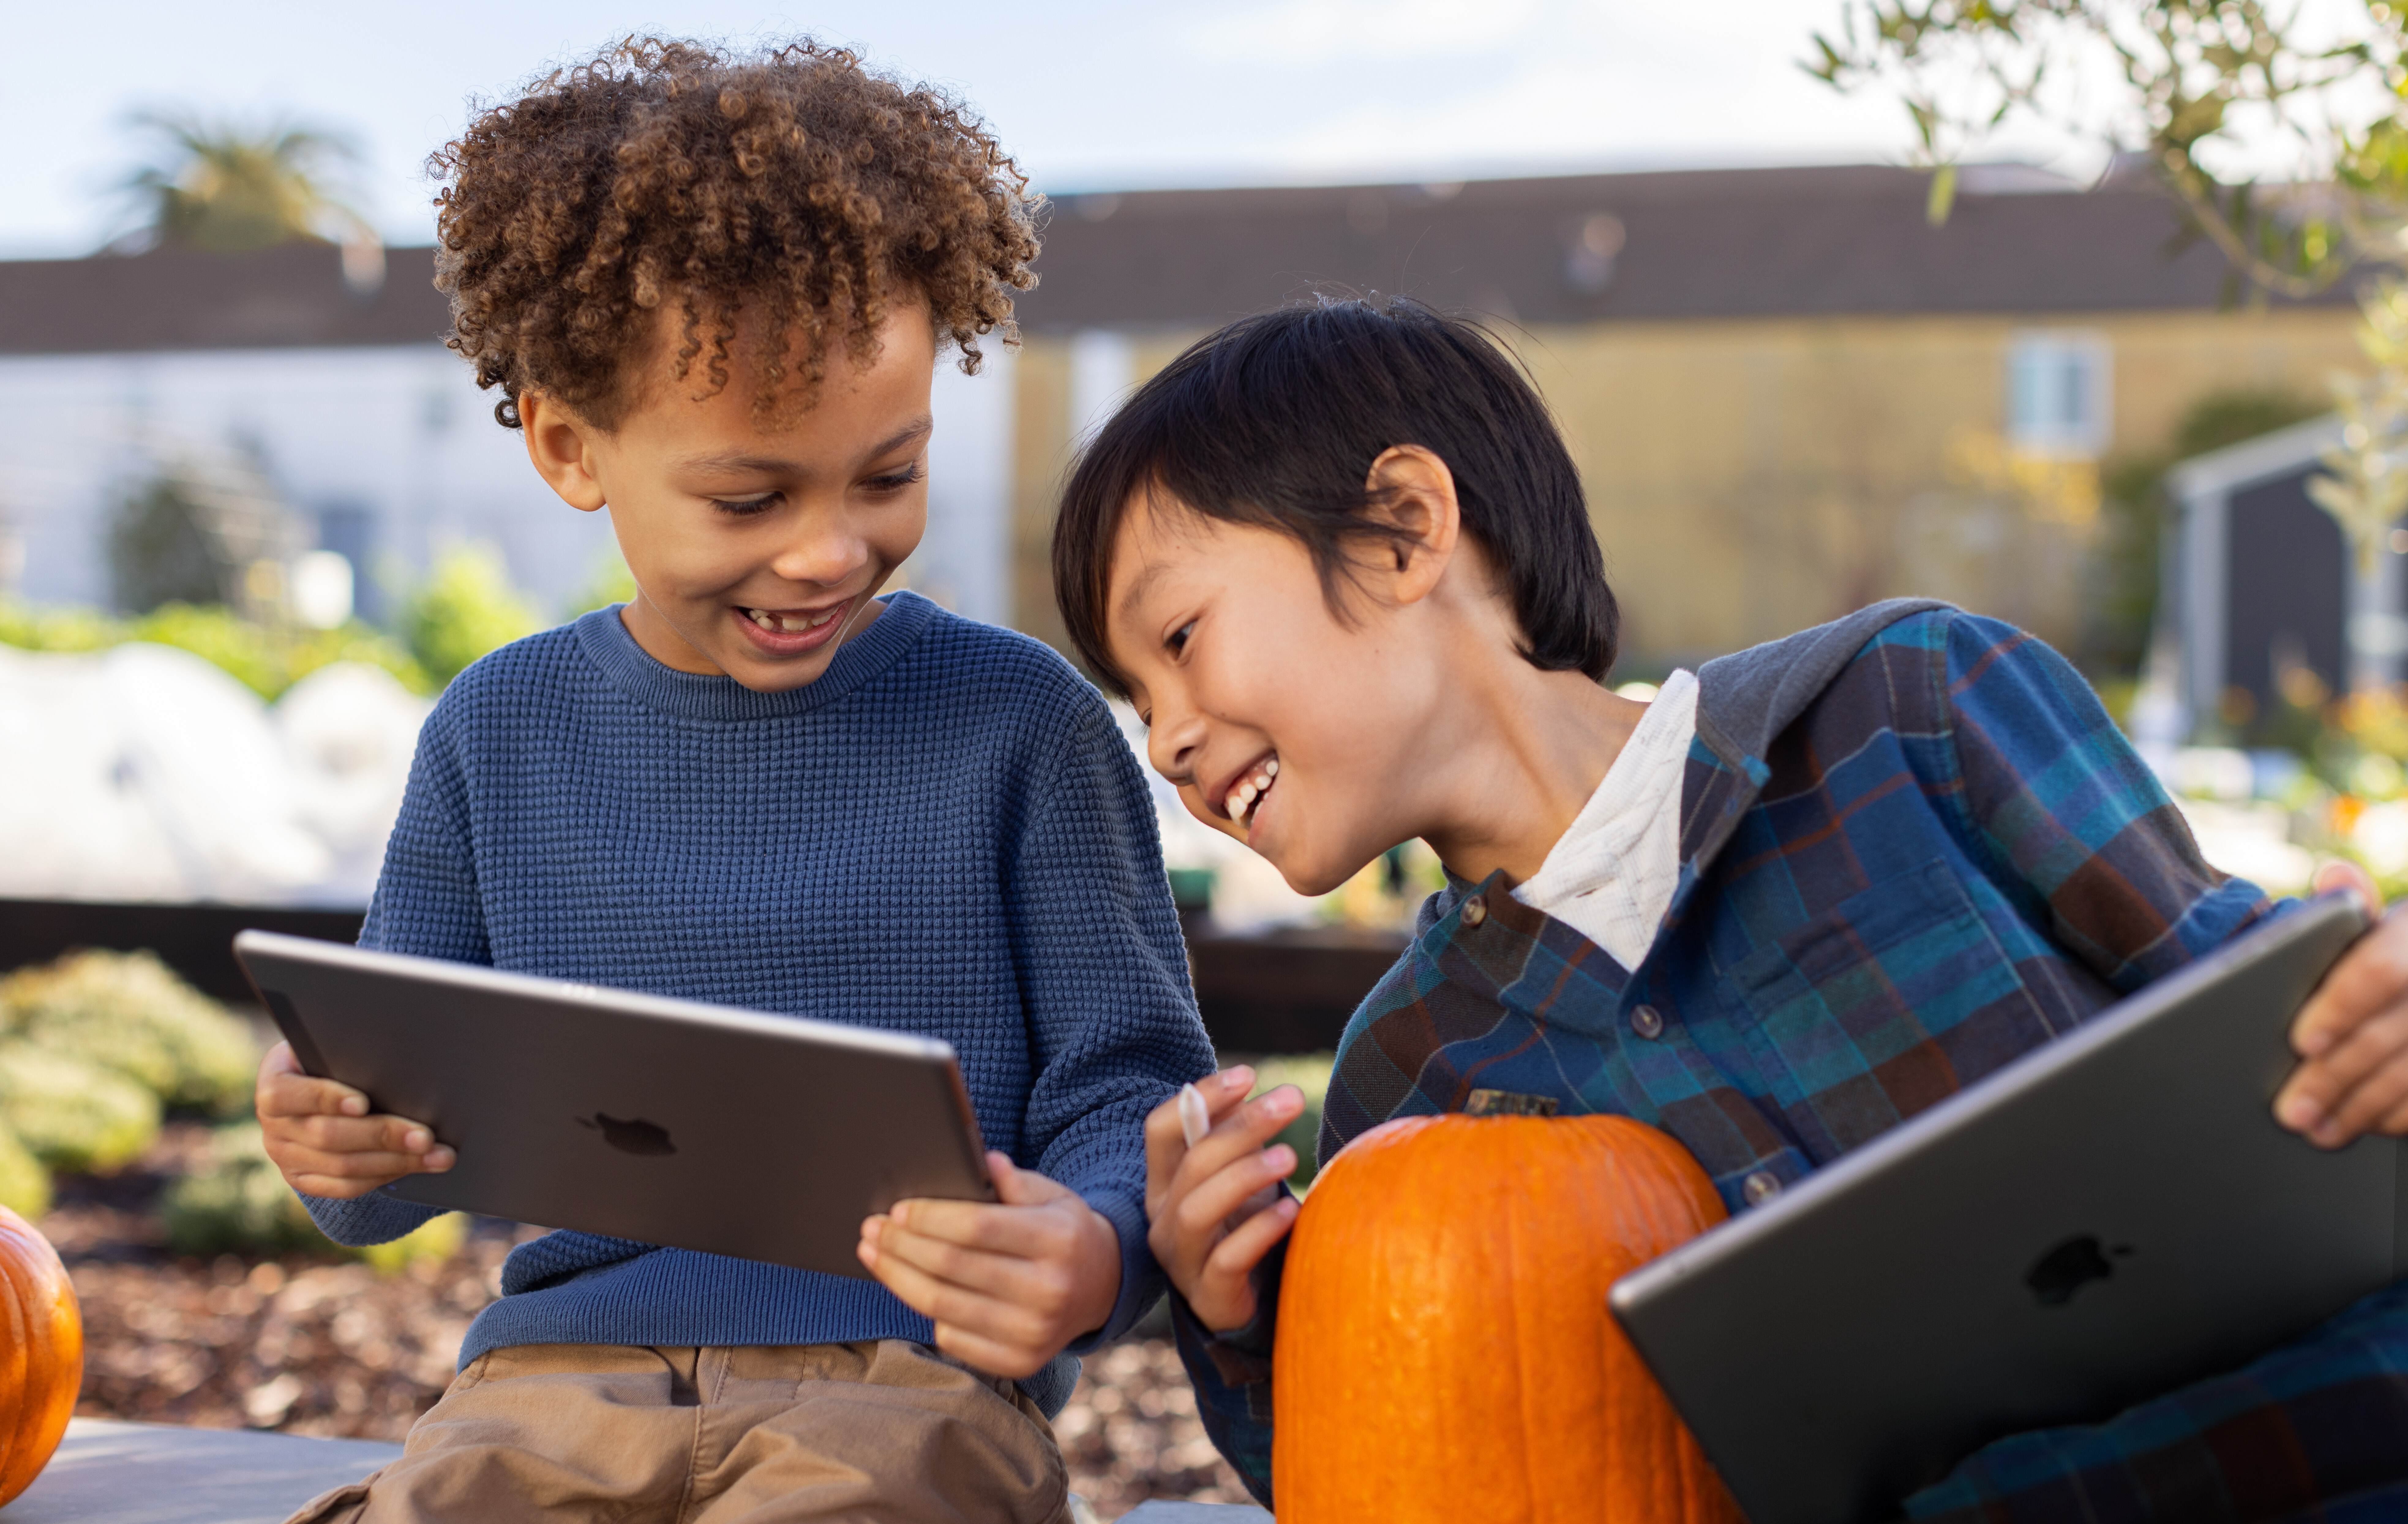
{"label": "leafy green tree branches hanging in the top right corner", "polygon": [[[1806,70],[1898,96],[1934,224],[1958,164],[2042,123],[2146,166],[2186,236],[2230,262],[2232,301],[2379,272],[2360,287],[2369,373],[2336,378],[2350,429],[2309,489],[2374,563],[2408,508],[2394,469],[2408,455],[2408,5],[2367,5],[2336,39],[2309,7],[2264,0],[1842,0]],[[2251,142],[2290,164],[2266,183],[2237,171]]]}

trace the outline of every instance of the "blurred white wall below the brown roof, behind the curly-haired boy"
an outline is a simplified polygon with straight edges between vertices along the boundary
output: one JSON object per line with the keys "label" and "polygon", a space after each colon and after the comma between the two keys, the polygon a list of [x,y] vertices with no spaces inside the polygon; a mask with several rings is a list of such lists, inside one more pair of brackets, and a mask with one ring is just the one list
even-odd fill
{"label": "blurred white wall below the brown roof, behind the curly-haired boy", "polygon": [[[929,532],[908,571],[929,597],[1002,621],[1011,354],[987,352],[980,376],[939,364]],[[303,534],[325,510],[368,515],[361,583],[414,578],[443,547],[489,539],[520,587],[571,614],[609,554],[609,522],[551,496],[518,433],[494,424],[494,392],[448,349],[17,356],[0,359],[0,537],[14,542],[0,585],[106,607],[116,501],[161,460],[243,441],[301,510]]]}

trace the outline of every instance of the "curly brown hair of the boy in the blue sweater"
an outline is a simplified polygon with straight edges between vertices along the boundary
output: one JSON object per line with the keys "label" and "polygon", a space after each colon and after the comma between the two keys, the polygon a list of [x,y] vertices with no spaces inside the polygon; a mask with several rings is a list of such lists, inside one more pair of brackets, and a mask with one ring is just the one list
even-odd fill
{"label": "curly brown hair of the boy in the blue sweater", "polygon": [[448,344],[501,388],[506,429],[527,388],[616,429],[665,306],[684,315],[677,378],[701,361],[706,395],[739,308],[761,320],[768,412],[809,400],[831,337],[872,359],[898,296],[975,373],[982,335],[1019,342],[1011,294],[1035,284],[1043,200],[985,125],[814,41],[628,39],[484,111],[429,169]]}

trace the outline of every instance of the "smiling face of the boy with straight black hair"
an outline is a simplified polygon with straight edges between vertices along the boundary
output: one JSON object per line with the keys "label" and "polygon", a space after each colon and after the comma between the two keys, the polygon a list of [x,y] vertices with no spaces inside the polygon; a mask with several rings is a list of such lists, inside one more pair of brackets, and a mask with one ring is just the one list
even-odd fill
{"label": "smiling face of the boy with straight black hair", "polygon": [[1430,828],[1416,756],[1445,662],[1406,609],[1361,590],[1346,609],[1286,534],[1144,498],[1122,518],[1108,631],[1149,761],[1300,893]]}

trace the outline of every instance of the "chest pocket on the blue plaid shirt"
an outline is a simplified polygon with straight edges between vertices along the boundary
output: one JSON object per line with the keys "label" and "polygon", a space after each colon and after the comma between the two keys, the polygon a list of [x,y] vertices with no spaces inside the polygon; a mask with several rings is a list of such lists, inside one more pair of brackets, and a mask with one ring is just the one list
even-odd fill
{"label": "chest pocket on the blue plaid shirt", "polygon": [[1748,1052],[1816,1163],[2052,1035],[1943,860],[1840,900],[1729,980]]}

